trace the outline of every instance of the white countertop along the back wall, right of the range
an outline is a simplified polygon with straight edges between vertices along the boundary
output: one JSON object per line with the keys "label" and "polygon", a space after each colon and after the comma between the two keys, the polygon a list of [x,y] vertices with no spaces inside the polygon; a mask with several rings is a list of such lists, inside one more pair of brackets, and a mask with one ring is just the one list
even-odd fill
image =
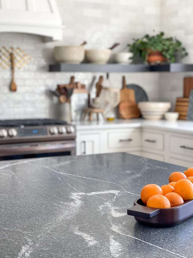
{"label": "white countertop along the back wall, right of the range", "polygon": [[164,131],[186,132],[193,133],[193,121],[177,120],[176,122],[169,122],[166,120],[151,121],[143,118],[139,119],[115,119],[114,121],[78,121],[75,122],[77,130],[97,130],[108,128],[129,128],[142,127],[152,128]]}

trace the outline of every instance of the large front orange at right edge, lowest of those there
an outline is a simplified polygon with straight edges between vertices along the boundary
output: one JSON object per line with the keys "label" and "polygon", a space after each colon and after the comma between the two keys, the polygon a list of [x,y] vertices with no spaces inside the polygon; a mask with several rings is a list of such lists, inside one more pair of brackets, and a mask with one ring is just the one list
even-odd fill
{"label": "large front orange at right edge, lowest of those there", "polygon": [[190,180],[180,179],[176,182],[174,192],[181,195],[184,201],[193,199],[193,184]]}

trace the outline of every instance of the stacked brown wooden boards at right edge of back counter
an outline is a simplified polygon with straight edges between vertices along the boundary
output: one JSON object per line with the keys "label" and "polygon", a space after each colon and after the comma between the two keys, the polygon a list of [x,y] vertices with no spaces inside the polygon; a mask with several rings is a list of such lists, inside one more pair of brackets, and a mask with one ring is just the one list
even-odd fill
{"label": "stacked brown wooden boards at right edge of back counter", "polygon": [[189,107],[189,94],[193,89],[193,77],[185,77],[183,85],[183,98],[176,99],[175,111],[179,113],[179,119],[186,120]]}

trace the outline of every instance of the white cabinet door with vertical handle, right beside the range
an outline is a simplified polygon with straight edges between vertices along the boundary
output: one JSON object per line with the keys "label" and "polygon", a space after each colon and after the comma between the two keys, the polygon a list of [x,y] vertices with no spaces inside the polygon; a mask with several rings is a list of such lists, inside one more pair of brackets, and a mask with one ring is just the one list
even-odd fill
{"label": "white cabinet door with vertical handle, right beside the range", "polygon": [[100,153],[100,134],[81,133],[76,140],[76,154],[89,155]]}

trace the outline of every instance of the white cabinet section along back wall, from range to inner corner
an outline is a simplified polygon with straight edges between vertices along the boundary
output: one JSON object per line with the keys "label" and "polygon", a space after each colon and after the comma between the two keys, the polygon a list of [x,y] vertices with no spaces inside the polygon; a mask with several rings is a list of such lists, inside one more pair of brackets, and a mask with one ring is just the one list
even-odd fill
{"label": "white cabinet section along back wall, from range to inner corner", "polygon": [[77,155],[110,152],[141,154],[141,129],[77,130]]}

